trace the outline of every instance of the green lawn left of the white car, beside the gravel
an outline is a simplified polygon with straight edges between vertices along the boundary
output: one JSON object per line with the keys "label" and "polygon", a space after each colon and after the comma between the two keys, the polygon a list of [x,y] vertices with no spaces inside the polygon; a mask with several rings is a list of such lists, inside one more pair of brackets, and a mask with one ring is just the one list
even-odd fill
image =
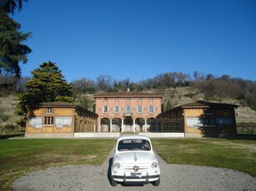
{"label": "green lawn left of the white car, beside the gravel", "polygon": [[28,172],[68,164],[102,164],[116,140],[0,140],[0,190]]}

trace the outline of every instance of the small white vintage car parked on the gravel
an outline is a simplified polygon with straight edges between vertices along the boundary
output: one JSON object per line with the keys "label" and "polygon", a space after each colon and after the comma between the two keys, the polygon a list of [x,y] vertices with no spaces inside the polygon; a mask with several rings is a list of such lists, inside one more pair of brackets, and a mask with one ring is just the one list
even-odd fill
{"label": "small white vintage car parked on the gravel", "polygon": [[116,186],[118,182],[160,184],[160,167],[148,137],[130,135],[118,138],[111,167],[111,184]]}

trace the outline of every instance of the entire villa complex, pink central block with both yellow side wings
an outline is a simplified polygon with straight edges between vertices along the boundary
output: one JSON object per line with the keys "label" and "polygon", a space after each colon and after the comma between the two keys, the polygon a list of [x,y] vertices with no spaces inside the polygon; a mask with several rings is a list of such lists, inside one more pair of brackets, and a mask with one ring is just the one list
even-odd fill
{"label": "entire villa complex, pink central block with both yellow side wings", "polygon": [[25,137],[118,137],[125,132],[195,137],[237,133],[234,110],[238,105],[196,101],[162,112],[163,96],[158,94],[124,91],[93,97],[95,113],[65,102],[27,105]]}

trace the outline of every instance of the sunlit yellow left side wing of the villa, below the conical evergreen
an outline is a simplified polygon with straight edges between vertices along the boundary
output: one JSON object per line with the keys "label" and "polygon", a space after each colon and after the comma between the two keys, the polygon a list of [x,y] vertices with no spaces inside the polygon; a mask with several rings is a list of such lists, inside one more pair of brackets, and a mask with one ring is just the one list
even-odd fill
{"label": "sunlit yellow left side wing of the villa, below the conical evergreen", "polygon": [[27,105],[27,110],[28,138],[73,138],[74,133],[96,131],[98,115],[78,105],[48,102]]}

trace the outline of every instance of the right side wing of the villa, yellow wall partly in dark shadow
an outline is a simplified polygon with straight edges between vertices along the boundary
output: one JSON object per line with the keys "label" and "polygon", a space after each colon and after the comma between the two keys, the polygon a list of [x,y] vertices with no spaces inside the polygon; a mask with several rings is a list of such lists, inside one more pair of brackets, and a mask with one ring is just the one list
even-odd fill
{"label": "right side wing of the villa, yellow wall partly in dark shadow", "polygon": [[162,132],[183,132],[185,137],[236,135],[234,109],[238,105],[196,101],[158,115]]}

